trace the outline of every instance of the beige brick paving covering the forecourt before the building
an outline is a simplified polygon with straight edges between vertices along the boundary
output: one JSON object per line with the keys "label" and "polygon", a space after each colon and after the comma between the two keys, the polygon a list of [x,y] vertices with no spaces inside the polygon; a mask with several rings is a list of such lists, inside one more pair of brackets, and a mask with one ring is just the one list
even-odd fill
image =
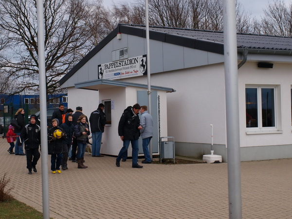
{"label": "beige brick paving covering the forecourt before the building", "polygon": [[[0,138],[1,173],[12,194],[42,212],[41,162],[27,174],[26,157],[9,154]],[[110,156],[85,154],[87,169],[49,172],[50,217],[54,219],[227,219],[227,164],[115,166]],[[142,159],[139,159],[141,164]],[[50,165],[50,156],[48,159]],[[49,167],[50,169],[50,167]],[[242,218],[292,218],[292,159],[241,163]]]}

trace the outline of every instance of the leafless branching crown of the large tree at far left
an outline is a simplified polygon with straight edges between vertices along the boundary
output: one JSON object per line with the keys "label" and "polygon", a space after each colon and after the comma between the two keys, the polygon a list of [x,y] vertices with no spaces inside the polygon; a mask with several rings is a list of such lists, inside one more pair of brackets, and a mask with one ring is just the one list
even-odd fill
{"label": "leafless branching crown of the large tree at far left", "polygon": [[[44,0],[47,92],[63,92],[59,79],[91,49],[84,32],[84,0]],[[10,40],[2,53],[1,71],[16,90],[38,91],[36,0],[0,0],[0,28]],[[18,82],[18,83],[17,83]]]}

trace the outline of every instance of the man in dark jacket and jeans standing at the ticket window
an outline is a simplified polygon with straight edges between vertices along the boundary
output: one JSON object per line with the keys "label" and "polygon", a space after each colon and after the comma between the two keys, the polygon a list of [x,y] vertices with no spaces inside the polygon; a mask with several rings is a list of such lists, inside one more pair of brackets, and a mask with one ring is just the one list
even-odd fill
{"label": "man in dark jacket and jeans standing at the ticket window", "polygon": [[99,104],[97,110],[91,112],[89,117],[92,134],[92,157],[104,156],[100,153],[102,133],[107,122],[106,114],[103,112],[104,109],[105,105]]}

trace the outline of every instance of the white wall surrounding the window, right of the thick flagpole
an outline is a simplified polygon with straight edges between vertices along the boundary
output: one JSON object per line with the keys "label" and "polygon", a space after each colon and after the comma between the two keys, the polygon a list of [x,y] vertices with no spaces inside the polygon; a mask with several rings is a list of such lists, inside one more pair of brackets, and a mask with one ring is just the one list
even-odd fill
{"label": "white wall surrounding the window, right of the thick flagpole", "polygon": [[[240,146],[273,146],[290,145],[292,140],[291,126],[291,64],[275,63],[273,69],[257,68],[257,62],[247,62],[238,71],[239,78],[239,116]],[[278,115],[282,115],[278,126],[280,131],[265,134],[246,134],[245,86],[277,85]]]}

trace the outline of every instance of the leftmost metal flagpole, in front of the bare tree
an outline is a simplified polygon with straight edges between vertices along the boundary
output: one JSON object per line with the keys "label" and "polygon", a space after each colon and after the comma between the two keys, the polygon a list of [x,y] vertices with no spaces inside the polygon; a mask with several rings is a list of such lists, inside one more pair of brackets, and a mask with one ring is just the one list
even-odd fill
{"label": "leftmost metal flagpole, in front of the bare tree", "polygon": [[39,103],[40,103],[40,135],[41,135],[41,170],[42,170],[42,201],[43,218],[50,219],[49,205],[49,175],[48,175],[48,142],[47,142],[47,92],[45,69],[43,1],[37,0],[37,48],[39,73]]}

